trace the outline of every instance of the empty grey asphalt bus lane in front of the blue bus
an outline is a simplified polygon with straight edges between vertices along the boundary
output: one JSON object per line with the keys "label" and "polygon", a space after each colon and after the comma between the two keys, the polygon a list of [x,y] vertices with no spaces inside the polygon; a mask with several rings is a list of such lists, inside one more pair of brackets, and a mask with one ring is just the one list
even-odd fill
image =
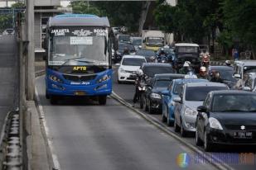
{"label": "empty grey asphalt bus lane in front of the blue bus", "polygon": [[79,99],[51,106],[43,77],[36,79],[36,88],[61,169],[180,169],[180,153],[189,155],[186,169],[215,169],[195,163],[191,149],[112,98],[106,106]]}

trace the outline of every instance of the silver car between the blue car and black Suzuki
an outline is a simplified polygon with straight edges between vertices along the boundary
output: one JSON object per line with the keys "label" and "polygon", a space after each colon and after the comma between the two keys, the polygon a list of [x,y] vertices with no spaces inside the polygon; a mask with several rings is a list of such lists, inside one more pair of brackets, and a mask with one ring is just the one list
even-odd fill
{"label": "silver car between the blue car and black Suzuki", "polygon": [[196,131],[197,106],[203,105],[208,92],[228,90],[223,83],[187,83],[183,86],[180,97],[173,99],[176,102],[174,111],[174,130],[181,131],[181,136]]}

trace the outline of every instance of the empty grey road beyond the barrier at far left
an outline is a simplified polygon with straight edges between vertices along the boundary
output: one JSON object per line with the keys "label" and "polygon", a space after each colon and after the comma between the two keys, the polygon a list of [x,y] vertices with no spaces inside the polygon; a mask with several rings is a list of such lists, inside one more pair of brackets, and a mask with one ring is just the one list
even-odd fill
{"label": "empty grey road beyond the barrier at far left", "polygon": [[17,107],[17,64],[17,45],[14,36],[0,36],[0,130],[7,112]]}

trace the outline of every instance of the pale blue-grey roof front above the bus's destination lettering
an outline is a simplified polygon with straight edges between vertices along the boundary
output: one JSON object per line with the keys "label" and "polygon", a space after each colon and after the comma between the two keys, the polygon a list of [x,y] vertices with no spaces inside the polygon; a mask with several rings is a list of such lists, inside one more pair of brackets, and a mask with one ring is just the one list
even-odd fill
{"label": "pale blue-grey roof front above the bus's destination lettering", "polygon": [[63,14],[51,17],[49,26],[106,26],[109,27],[108,17],[98,17],[90,14]]}

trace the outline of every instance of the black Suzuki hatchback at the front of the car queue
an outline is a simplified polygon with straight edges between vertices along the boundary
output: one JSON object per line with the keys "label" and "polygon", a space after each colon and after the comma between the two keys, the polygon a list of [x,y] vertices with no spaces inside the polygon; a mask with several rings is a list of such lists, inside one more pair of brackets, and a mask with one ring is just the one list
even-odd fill
{"label": "black Suzuki hatchback at the front of the car queue", "polygon": [[254,92],[209,92],[197,111],[196,144],[204,144],[205,151],[216,144],[256,144]]}

